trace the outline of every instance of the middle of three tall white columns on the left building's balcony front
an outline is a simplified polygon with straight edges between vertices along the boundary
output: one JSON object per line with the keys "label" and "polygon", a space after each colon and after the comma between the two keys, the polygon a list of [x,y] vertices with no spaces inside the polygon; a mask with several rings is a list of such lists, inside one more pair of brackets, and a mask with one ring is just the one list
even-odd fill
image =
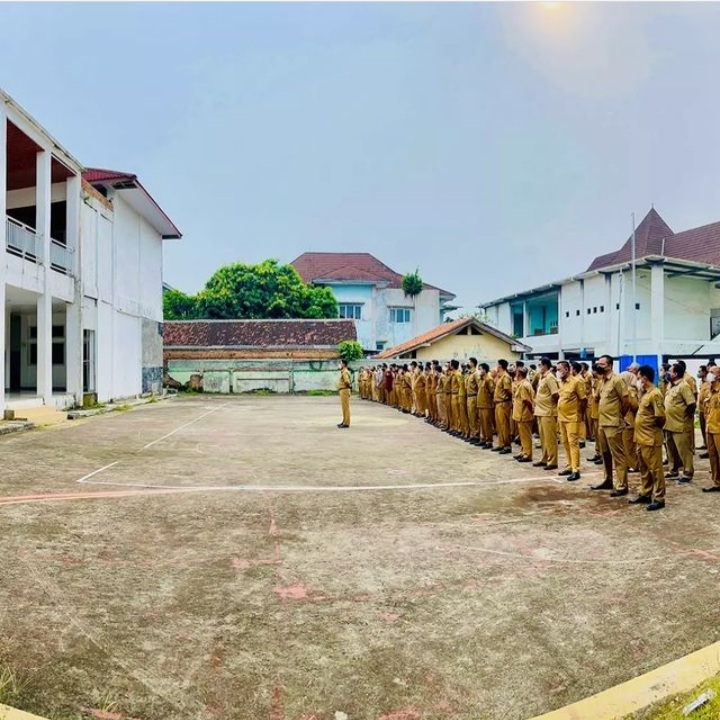
{"label": "middle of three tall white columns on the left building's balcony front", "polygon": [[35,187],[35,230],[42,244],[42,262],[45,266],[43,292],[37,301],[38,364],[37,394],[46,405],[52,405],[52,287],[50,271],[50,185],[52,154],[43,150],[37,154],[37,180]]}

